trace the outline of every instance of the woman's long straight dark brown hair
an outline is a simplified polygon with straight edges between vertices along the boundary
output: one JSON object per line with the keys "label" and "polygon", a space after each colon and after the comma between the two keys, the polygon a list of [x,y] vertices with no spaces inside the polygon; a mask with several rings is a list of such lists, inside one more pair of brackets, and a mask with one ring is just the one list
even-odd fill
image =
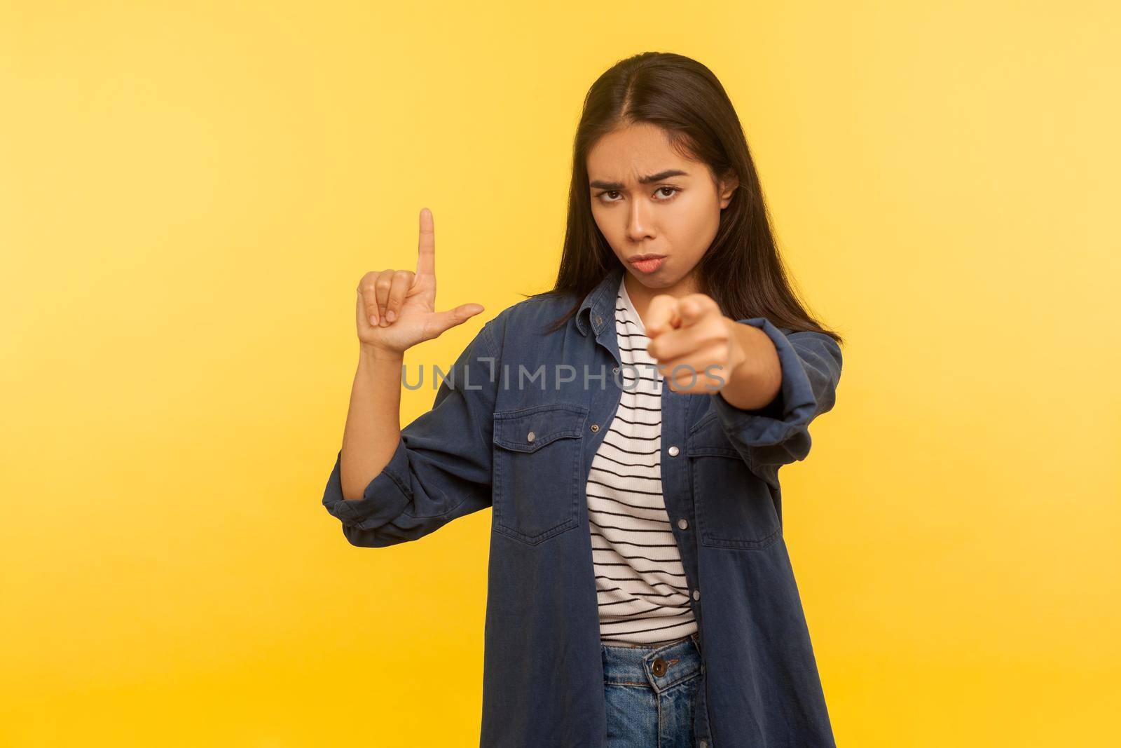
{"label": "woman's long straight dark brown hair", "polygon": [[548,331],[566,324],[604,275],[621,267],[592,215],[587,154],[608,132],[637,122],[663,128],[677,153],[707,164],[714,178],[734,174],[739,179],[731,202],[721,211],[716,237],[697,265],[701,293],[712,296],[733,320],[767,317],[777,327],[823,332],[843,342],[810,316],[791,288],[743,128],[724,87],[695,59],[661,52],[615,63],[584,98],[573,147],[560,268],[556,285],[544,292],[575,298]]}

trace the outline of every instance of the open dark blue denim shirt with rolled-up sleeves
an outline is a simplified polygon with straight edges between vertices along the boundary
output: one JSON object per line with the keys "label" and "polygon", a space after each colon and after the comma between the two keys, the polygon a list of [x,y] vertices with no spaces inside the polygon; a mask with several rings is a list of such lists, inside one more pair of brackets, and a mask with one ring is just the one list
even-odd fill
{"label": "open dark blue denim shirt with rolled-up sleeves", "polygon": [[[554,333],[544,326],[574,299],[502,311],[458,357],[432,409],[401,430],[362,498],[342,497],[341,450],[323,495],[346,539],[364,547],[492,508],[481,746],[606,742],[584,491],[624,382],[613,324],[622,273]],[[841,349],[765,317],[738,322],[778,350],[773,403],[743,410],[720,393],[661,396],[663,492],[704,663],[694,733],[716,748],[835,746],[782,537],[778,470],[809,453],[809,424],[834,404]]]}

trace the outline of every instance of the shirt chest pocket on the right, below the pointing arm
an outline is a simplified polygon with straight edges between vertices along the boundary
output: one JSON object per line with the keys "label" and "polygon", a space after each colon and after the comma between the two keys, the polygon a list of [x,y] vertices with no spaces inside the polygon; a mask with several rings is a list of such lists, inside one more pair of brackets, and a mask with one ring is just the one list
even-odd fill
{"label": "shirt chest pocket on the right, below the pointing arm", "polygon": [[720,419],[706,416],[686,437],[701,543],[762,548],[781,535],[770,489],[732,446]]}

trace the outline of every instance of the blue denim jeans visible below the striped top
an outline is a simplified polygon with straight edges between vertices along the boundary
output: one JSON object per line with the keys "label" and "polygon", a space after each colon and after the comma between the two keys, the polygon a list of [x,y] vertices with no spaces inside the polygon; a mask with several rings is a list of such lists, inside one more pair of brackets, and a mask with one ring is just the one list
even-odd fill
{"label": "blue denim jeans visible below the striped top", "polygon": [[701,683],[697,635],[654,647],[600,646],[608,746],[693,748],[693,707]]}

